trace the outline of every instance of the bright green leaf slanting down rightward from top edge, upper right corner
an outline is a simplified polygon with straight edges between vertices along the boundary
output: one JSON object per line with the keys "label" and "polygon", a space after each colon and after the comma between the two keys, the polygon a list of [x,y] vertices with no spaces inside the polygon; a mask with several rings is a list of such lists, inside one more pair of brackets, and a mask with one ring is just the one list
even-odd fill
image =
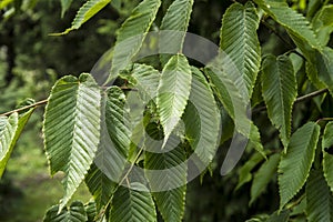
{"label": "bright green leaf slanting down rightward from top edge, upper right corner", "polygon": [[311,48],[320,48],[310,22],[291,9],[286,2],[276,0],[254,0],[270,17],[284,27],[289,33],[306,41]]}

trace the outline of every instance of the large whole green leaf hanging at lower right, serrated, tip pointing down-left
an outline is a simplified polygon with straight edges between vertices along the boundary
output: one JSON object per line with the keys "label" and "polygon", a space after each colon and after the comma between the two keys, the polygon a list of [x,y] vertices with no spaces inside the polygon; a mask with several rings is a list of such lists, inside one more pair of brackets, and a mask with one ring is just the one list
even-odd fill
{"label": "large whole green leaf hanging at lower right, serrated, tip pointing down-left", "polygon": [[302,189],[314,160],[320,127],[307,122],[291,137],[279,164],[280,210]]}

